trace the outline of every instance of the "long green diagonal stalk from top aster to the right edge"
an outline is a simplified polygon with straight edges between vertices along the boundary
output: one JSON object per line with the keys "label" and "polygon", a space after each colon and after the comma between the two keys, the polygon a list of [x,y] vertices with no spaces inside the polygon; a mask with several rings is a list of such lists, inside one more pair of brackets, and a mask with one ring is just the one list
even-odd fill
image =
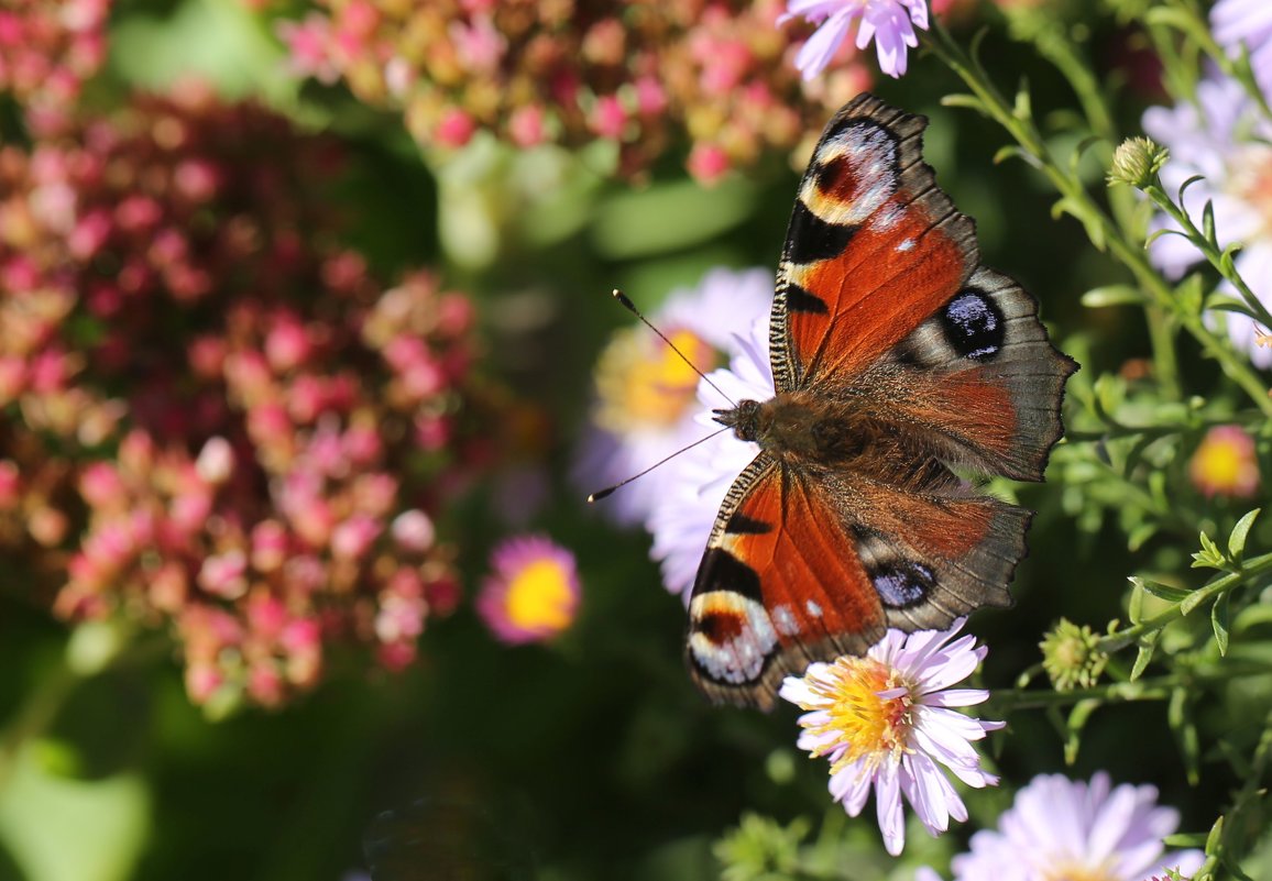
{"label": "long green diagonal stalk from top aster to the right edge", "polygon": [[[1007,130],[1024,150],[1030,164],[1047,175],[1063,197],[1066,210],[1086,226],[1091,239],[1105,242],[1114,256],[1131,270],[1136,281],[1150,294],[1154,303],[1179,322],[1201,343],[1202,351],[1219,361],[1224,372],[1250,397],[1266,416],[1272,417],[1272,398],[1268,398],[1267,386],[1263,385],[1258,375],[1205,325],[1199,314],[1193,314],[1179,304],[1170,286],[1149,263],[1144,248],[1132,244],[1122,235],[1117,225],[1091,200],[1081,182],[1070,177],[1056,163],[1038,130],[1011,109],[979,65],[963,52],[940,20],[932,22],[932,29],[927,34],[925,38],[927,47],[962,78],[979,99],[985,112]],[[1159,365],[1160,369],[1161,365]]]}

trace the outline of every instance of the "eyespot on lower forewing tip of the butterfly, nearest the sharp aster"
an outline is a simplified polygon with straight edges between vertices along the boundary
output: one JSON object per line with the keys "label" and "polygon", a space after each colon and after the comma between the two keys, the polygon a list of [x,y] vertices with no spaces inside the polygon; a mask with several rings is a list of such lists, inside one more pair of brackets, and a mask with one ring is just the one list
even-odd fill
{"label": "eyespot on lower forewing tip of the butterfly, nearest the sharp aster", "polygon": [[728,590],[689,603],[689,659],[709,679],[754,681],[776,648],[777,631],[763,604]]}

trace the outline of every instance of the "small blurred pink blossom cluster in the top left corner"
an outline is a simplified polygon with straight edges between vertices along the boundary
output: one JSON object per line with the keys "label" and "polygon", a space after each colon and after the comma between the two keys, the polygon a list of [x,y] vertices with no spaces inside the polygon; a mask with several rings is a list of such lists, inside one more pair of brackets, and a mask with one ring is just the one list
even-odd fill
{"label": "small blurred pink blossom cluster in the top left corner", "polygon": [[9,0],[0,9],[0,93],[48,131],[65,125],[80,86],[106,58],[112,0]]}

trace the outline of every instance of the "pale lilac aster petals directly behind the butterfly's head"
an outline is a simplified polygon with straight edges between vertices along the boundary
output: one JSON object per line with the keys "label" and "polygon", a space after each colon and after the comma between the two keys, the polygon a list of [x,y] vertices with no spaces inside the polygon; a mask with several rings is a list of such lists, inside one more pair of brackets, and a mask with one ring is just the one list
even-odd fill
{"label": "pale lilac aster petals directly behind the butterfly's head", "polygon": [[[712,411],[739,400],[768,400],[773,397],[773,371],[768,364],[768,315],[753,318],[749,332],[733,341],[734,356],[726,370],[716,370],[698,383],[701,409],[695,418],[698,436],[720,430]],[[719,389],[719,390],[717,390]],[[728,395],[721,398],[720,393]],[[759,453],[759,446],[720,431],[667,464],[661,495],[655,500],[646,525],[654,535],[650,557],[663,567],[663,584],[688,600],[688,587],[698,571],[716,514],[729,487]]]}

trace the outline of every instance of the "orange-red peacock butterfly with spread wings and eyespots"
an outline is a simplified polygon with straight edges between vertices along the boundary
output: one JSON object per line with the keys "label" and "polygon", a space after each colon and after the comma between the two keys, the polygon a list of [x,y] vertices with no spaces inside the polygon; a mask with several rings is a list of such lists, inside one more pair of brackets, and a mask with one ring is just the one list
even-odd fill
{"label": "orange-red peacock butterfly with spread wings and eyespots", "polygon": [[776,394],[715,411],[759,446],[689,599],[688,666],[716,702],[768,709],[810,661],[1011,603],[1033,514],[960,474],[1040,481],[1077,364],[981,264],[926,126],[865,94],[829,121],[778,266]]}

